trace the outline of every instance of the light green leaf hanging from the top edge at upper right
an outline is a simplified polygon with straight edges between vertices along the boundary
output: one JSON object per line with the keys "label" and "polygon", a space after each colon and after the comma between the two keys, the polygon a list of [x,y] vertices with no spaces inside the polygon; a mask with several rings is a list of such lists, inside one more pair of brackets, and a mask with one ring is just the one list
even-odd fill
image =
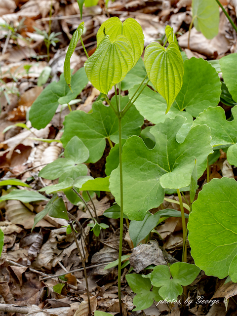
{"label": "light green leaf hanging from the top edge at upper right", "polygon": [[219,5],[215,0],[192,0],[194,26],[208,40],[219,32]]}

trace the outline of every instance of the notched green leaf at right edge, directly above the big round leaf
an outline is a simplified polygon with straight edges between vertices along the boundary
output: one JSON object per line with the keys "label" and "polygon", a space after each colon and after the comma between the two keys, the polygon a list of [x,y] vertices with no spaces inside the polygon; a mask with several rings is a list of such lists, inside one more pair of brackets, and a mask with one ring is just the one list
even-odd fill
{"label": "notched green leaf at right edge, directly above the big round leaf", "polygon": [[208,108],[197,117],[193,126],[206,124],[211,129],[211,145],[215,149],[229,147],[227,159],[237,166],[237,106],[232,108],[233,120],[226,120],[221,107]]}

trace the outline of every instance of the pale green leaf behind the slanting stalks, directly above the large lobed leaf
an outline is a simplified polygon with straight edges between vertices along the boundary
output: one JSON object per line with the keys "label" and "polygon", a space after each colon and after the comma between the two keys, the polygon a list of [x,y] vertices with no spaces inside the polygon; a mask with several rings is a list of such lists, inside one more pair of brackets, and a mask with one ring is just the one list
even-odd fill
{"label": "pale green leaf behind the slanting stalks, directly above the large lobed leaf", "polygon": [[[129,98],[133,95],[137,88],[138,85],[135,85],[132,89],[129,89]],[[166,118],[175,118],[177,115],[187,118],[176,136],[176,140],[179,143],[182,143],[185,140],[185,137],[193,124],[193,117],[191,114],[185,111],[180,111],[174,107],[171,107],[169,112],[165,114],[165,110],[167,108],[166,101],[159,93],[151,90],[149,87],[146,87],[143,90],[134,105],[140,114],[153,124],[163,123]]]}

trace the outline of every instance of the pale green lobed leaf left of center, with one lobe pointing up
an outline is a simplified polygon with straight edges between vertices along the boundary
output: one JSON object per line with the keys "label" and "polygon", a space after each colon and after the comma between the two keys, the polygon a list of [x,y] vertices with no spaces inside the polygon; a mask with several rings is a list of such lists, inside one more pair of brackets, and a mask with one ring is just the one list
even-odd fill
{"label": "pale green lobed leaf left of center, with one lobe pointing up", "polygon": [[89,158],[89,151],[77,136],[68,142],[64,156],[43,167],[39,176],[50,180],[59,178],[59,182],[62,182],[66,178],[76,179],[87,174],[87,166],[81,162]]}

